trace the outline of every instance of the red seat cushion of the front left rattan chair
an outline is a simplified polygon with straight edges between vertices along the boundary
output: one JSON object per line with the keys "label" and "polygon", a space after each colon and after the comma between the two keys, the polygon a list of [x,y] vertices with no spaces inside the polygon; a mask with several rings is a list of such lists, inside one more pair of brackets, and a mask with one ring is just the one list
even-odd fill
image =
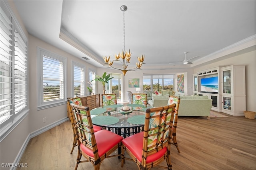
{"label": "red seat cushion of the front left rattan chair", "polygon": [[[100,157],[123,139],[123,137],[106,129],[95,132],[94,135],[98,147],[98,154]],[[88,154],[91,157],[94,157],[92,150],[88,149],[83,144],[80,145],[80,148],[84,153]]]}

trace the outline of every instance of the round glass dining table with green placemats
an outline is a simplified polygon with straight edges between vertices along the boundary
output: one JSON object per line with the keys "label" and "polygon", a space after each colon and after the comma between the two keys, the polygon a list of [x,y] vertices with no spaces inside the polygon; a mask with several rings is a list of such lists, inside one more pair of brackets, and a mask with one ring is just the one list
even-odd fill
{"label": "round glass dining table with green placemats", "polygon": [[[123,106],[129,109],[123,111]],[[92,124],[106,128],[124,138],[144,130],[146,109],[140,104],[115,104],[90,111]]]}

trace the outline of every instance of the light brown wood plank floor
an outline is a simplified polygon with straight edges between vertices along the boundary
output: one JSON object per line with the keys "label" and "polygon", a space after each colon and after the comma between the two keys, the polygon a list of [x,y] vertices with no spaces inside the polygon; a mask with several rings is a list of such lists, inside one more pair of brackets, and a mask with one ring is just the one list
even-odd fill
{"label": "light brown wood plank floor", "polygon": [[[177,140],[181,153],[172,145],[172,169],[256,170],[256,119],[228,116],[211,117],[210,120],[179,117]],[[73,170],[77,147],[70,154],[72,137],[71,123],[66,121],[32,138],[20,160],[28,164],[23,169]],[[137,169],[136,164],[128,160],[121,168],[121,160],[117,157],[105,159],[101,165],[101,170]],[[80,163],[78,170],[93,170],[93,166],[90,162]]]}

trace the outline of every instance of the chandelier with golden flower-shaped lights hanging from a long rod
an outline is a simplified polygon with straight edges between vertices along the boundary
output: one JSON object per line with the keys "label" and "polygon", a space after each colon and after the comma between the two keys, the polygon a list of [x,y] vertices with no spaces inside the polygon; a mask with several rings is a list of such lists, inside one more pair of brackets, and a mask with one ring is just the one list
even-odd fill
{"label": "chandelier with golden flower-shaped lights hanging from a long rod", "polygon": [[[122,5],[120,7],[120,9],[124,13],[127,10],[127,6]],[[124,40],[125,40],[125,36],[124,36]],[[110,61],[110,56],[109,57],[105,56],[105,57],[103,57],[103,59],[105,61],[104,64],[108,64],[109,67],[112,67],[116,70],[121,70],[123,72],[124,76],[125,76],[127,71],[135,71],[137,69],[141,69],[140,67],[142,66],[142,64],[146,64],[146,63],[143,63],[144,57],[145,57],[144,55],[142,55],[141,57],[137,57],[138,58],[138,63],[136,62],[136,67],[131,68],[131,69],[127,69],[128,63],[130,63],[131,53],[130,53],[130,49],[129,49],[128,52],[125,51],[125,43],[124,43],[124,49],[122,50],[122,53],[119,53],[118,55],[115,55],[115,58],[116,58],[115,60]],[[122,63],[122,68],[116,68],[116,67],[112,66],[114,61],[121,62]]]}

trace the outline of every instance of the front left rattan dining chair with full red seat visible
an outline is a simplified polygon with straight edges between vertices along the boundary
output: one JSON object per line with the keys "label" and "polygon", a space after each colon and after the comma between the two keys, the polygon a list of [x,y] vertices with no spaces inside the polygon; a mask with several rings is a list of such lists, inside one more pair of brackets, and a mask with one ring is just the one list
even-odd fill
{"label": "front left rattan dining chair with full red seat visible", "polygon": [[[94,132],[89,107],[74,104],[70,106],[78,132],[76,134],[78,155],[75,170],[81,162],[91,162],[94,170],[100,170],[100,165],[105,158],[120,156],[120,154],[112,153],[121,146],[123,137],[106,129]],[[82,156],[86,160],[81,161]]]}

